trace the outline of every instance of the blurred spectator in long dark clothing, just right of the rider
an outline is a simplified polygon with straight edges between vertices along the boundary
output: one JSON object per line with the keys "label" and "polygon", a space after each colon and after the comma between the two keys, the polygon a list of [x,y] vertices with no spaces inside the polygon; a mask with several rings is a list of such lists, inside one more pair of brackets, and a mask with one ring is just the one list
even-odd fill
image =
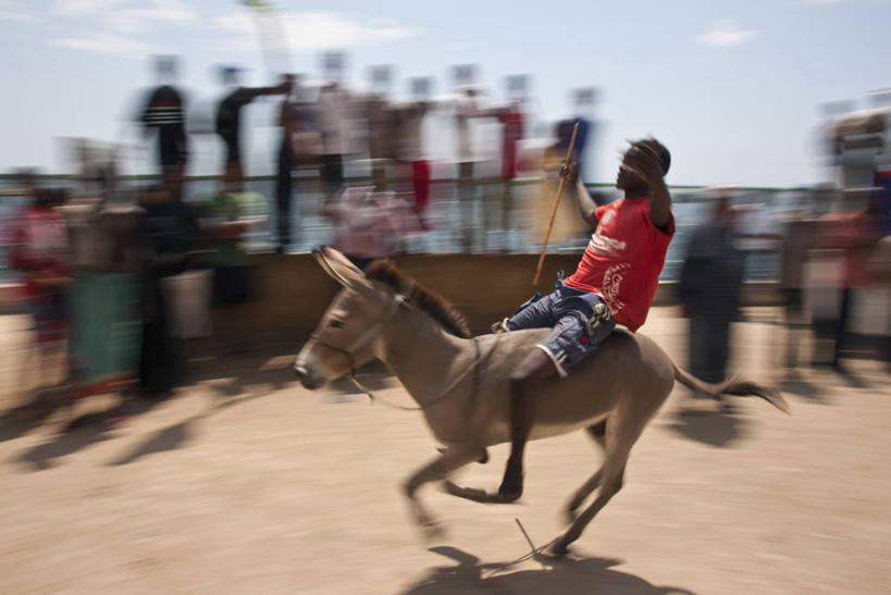
{"label": "blurred spectator in long dark clothing, just right of the rider", "polygon": [[730,198],[718,197],[711,221],[690,239],[678,297],[690,318],[690,371],[721,382],[730,356],[730,324],[739,317],[744,255],[737,248]]}

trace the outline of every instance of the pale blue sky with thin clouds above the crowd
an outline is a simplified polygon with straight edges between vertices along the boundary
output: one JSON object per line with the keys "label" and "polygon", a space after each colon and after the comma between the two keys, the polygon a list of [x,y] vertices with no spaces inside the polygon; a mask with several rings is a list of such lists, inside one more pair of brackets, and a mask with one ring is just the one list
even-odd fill
{"label": "pale blue sky with thin clouds above the crowd", "polygon": [[[626,138],[672,150],[673,184],[789,186],[818,179],[825,101],[867,104],[891,85],[891,3],[882,0],[503,2],[281,1],[289,59],[319,75],[319,52],[348,52],[348,79],[372,64],[448,90],[451,65],[480,65],[493,100],[503,77],[532,76],[536,119],[569,115],[569,90],[594,85],[602,121],[596,181]],[[184,58],[189,99],[210,101],[213,66],[270,79],[248,11],[231,0],[0,0],[0,170],[59,171],[57,137],[133,138],[125,116],[152,82],[147,57]],[[271,159],[271,107],[255,109],[251,159]],[[265,110],[265,111],[264,111]],[[262,146],[261,146],[262,145]],[[260,165],[257,168],[262,169]]]}

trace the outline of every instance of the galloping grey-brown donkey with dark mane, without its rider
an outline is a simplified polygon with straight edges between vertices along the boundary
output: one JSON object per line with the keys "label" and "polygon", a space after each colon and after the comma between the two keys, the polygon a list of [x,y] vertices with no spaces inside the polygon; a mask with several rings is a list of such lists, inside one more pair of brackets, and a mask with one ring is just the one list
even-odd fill
{"label": "galloping grey-brown donkey with dark mane, without its rider", "polygon": [[[488,446],[510,439],[510,372],[548,330],[471,337],[455,308],[392,262],[375,261],[366,274],[332,248],[313,255],[344,288],[297,355],[294,369],[302,385],[313,389],[341,376],[352,377],[364,362],[375,357],[383,360],[418,402],[444,447],[405,483],[416,521],[430,531],[437,528],[416,496],[428,482],[444,481],[446,491],[455,496],[500,501],[497,494],[461,487],[447,478],[470,462],[485,462]],[[758,396],[789,412],[774,388],[743,380],[707,384],[675,365],[646,336],[615,332],[568,377],[541,385],[530,439],[586,429],[605,453],[601,468],[570,498],[566,509],[570,525],[553,542],[554,554],[566,554],[619,492],[631,447],[668,398],[675,381],[715,396]],[[598,487],[596,498],[579,515]]]}

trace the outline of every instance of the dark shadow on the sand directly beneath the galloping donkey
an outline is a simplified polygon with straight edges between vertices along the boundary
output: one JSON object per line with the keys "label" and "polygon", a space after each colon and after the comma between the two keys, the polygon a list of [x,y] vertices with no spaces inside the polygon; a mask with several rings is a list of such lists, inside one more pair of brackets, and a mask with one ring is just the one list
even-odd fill
{"label": "dark shadow on the sand directly beneath the galloping donkey", "polygon": [[479,558],[455,547],[432,547],[441,556],[455,560],[457,566],[430,569],[406,595],[447,593],[634,593],[640,595],[688,594],[691,591],[671,586],[656,586],[645,579],[616,570],[619,560],[605,558],[553,558],[539,555],[535,560],[543,568],[511,571],[509,562],[480,565]]}

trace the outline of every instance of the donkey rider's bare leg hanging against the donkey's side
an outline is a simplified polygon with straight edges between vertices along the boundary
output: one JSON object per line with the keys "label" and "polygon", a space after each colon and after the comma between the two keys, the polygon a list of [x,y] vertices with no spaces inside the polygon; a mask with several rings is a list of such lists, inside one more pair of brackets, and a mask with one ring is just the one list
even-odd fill
{"label": "donkey rider's bare leg hanging against the donkey's side", "polygon": [[535,419],[537,385],[556,373],[550,358],[541,349],[533,349],[510,374],[510,457],[498,495],[513,501],[523,493],[523,451]]}

